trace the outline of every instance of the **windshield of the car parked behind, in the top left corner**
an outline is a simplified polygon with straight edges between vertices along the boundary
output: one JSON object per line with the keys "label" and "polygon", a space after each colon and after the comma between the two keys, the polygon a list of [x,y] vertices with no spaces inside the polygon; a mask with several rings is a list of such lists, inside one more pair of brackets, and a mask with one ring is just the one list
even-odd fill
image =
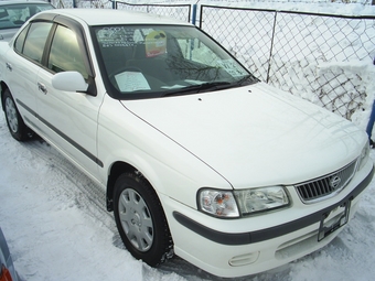
{"label": "windshield of the car parked behind, in the top left corner", "polygon": [[53,9],[50,3],[14,3],[0,2],[0,30],[18,29],[35,13]]}

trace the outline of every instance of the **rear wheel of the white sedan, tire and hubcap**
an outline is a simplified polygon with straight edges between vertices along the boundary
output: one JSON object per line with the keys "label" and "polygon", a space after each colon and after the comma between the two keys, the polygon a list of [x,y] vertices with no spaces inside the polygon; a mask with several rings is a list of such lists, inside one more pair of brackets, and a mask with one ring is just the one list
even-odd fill
{"label": "rear wheel of the white sedan, tire and hubcap", "polygon": [[3,107],[10,134],[18,141],[30,139],[32,136],[31,130],[23,122],[9,89],[4,91]]}

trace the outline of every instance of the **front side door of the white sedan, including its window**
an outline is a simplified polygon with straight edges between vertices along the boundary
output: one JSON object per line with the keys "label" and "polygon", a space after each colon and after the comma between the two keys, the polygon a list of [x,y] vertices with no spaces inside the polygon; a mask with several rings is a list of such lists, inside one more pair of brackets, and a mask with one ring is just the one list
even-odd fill
{"label": "front side door of the white sedan, including its window", "polygon": [[57,24],[46,55],[46,68],[38,75],[38,115],[44,137],[71,160],[95,176],[101,163],[96,159],[97,117],[101,104],[87,93],[57,90],[52,78],[58,72],[76,71],[86,80],[93,76],[82,34]]}

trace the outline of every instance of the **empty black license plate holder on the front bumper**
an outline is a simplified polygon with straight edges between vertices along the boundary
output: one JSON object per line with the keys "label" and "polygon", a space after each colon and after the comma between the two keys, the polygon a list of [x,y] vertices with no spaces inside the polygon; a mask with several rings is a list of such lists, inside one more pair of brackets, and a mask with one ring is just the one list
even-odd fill
{"label": "empty black license plate holder on the front bumper", "polygon": [[351,201],[346,201],[340,206],[324,213],[320,220],[318,241],[323,240],[340,227],[344,226],[349,220],[350,210]]}

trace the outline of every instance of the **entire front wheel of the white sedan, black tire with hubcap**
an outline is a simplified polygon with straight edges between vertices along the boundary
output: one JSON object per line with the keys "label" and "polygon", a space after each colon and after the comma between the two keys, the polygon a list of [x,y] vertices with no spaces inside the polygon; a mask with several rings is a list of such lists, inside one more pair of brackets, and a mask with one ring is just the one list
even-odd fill
{"label": "entire front wheel of the white sedan, black tire with hubcap", "polygon": [[173,256],[173,241],[160,201],[141,175],[125,173],[115,183],[115,220],[125,247],[156,267]]}

